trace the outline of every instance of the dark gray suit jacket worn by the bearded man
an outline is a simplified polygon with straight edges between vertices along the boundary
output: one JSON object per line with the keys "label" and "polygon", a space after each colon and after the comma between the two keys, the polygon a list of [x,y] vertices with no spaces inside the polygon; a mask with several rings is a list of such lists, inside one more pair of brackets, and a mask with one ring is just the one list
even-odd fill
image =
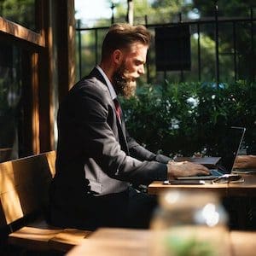
{"label": "dark gray suit jacket worn by the bearded man", "polygon": [[55,187],[108,195],[129,183],[166,179],[166,162],[140,146],[120,125],[102,74],[94,68],[61,102]]}

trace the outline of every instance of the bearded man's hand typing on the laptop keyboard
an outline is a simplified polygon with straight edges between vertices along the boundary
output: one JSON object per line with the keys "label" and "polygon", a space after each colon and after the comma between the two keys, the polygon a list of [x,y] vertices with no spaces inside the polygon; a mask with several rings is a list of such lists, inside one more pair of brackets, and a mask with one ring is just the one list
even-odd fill
{"label": "bearded man's hand typing on the laptop keyboard", "polygon": [[189,161],[169,161],[167,164],[167,175],[170,177],[209,175],[207,167]]}

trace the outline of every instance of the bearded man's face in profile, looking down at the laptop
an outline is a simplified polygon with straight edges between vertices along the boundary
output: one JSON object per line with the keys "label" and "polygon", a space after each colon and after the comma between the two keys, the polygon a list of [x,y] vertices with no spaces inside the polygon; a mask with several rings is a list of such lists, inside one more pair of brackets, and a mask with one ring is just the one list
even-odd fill
{"label": "bearded man's face in profile, looking down at the laptop", "polygon": [[113,81],[118,93],[125,97],[135,94],[136,79],[144,73],[148,46],[135,43],[130,50],[123,52],[124,60],[113,73]]}

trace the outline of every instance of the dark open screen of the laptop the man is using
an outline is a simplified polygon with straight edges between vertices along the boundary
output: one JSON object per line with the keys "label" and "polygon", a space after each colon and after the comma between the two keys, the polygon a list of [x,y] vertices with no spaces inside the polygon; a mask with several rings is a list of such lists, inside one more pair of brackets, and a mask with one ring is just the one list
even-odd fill
{"label": "dark open screen of the laptop the man is using", "polygon": [[224,173],[232,171],[245,131],[244,127],[232,126],[226,131],[224,140],[220,142],[219,147],[223,149],[223,152],[218,163],[218,169]]}

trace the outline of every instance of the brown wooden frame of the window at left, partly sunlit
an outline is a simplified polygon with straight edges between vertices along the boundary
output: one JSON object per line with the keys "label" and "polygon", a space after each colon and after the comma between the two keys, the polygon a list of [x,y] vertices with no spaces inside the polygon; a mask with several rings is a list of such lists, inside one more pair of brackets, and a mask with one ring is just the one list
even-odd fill
{"label": "brown wooden frame of the window at left, partly sunlit", "polygon": [[[26,68],[28,69],[29,77],[26,81],[26,92],[24,93],[24,101],[27,102],[27,105],[24,109],[25,124],[21,131],[21,143],[23,143],[25,150],[24,152],[19,152],[19,157],[39,154],[42,151],[53,148],[53,145],[50,145],[49,127],[53,124],[49,123],[49,94],[47,98],[44,98],[44,101],[47,102],[47,110],[40,111],[40,101],[42,100],[40,96],[45,96],[44,91],[49,93],[50,86],[50,84],[46,87],[42,86],[45,82],[49,82],[49,72],[44,79],[40,79],[44,77],[41,74],[42,67],[49,67],[49,58],[43,57],[45,53],[49,55],[49,44],[47,44],[47,41],[50,35],[47,35],[45,30],[46,21],[49,20],[50,15],[49,3],[50,0],[38,0],[35,3],[38,32],[34,32],[25,26],[21,26],[20,24],[0,16],[0,40],[16,45],[20,47],[20,49],[26,49],[28,52]],[[45,124],[42,127],[43,122],[45,122]],[[42,134],[47,134],[47,136],[44,135],[44,139],[46,139],[44,148],[40,145]]]}

